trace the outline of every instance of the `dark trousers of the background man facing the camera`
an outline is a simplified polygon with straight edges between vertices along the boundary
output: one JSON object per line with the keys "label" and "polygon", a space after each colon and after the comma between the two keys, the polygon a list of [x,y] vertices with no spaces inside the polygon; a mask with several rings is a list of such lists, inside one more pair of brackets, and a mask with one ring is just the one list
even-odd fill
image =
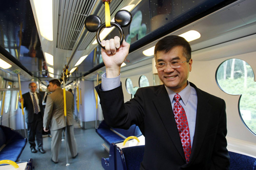
{"label": "dark trousers of the background man facing the camera", "polygon": [[41,112],[34,114],[34,120],[28,125],[28,140],[30,148],[35,148],[35,138],[37,142],[37,149],[42,149],[42,116]]}

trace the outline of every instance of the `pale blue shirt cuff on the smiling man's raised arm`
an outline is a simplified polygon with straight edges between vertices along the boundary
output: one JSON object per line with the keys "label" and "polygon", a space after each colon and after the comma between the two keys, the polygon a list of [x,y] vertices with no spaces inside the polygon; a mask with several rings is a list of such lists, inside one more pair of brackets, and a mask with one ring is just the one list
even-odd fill
{"label": "pale blue shirt cuff on the smiling man's raised arm", "polygon": [[101,85],[103,91],[112,90],[114,88],[119,87],[121,84],[120,75],[115,78],[106,78],[106,73],[101,76]]}

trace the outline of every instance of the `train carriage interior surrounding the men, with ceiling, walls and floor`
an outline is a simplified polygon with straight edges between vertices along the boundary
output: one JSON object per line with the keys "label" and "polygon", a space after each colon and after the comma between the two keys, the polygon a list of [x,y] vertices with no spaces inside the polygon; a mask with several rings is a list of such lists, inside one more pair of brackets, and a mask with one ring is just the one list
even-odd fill
{"label": "train carriage interior surrounding the men, with ceiling, walls and floor", "polygon": [[[23,145],[18,145],[12,161],[27,162],[27,168],[137,169],[140,162],[133,162],[141,160],[141,156],[129,154],[143,155],[141,146],[145,143],[141,132],[114,130],[104,123],[94,89],[105,72],[97,36],[99,40],[124,36],[131,44],[121,67],[126,102],[140,87],[163,84],[155,67],[154,47],[165,36],[179,35],[192,50],[193,67],[188,81],[226,103],[227,149],[233,158],[230,169],[255,169],[255,7],[255,0],[112,0],[111,22],[115,22],[118,11],[127,10],[132,15],[131,23],[122,27],[123,33],[115,26],[97,35],[88,31],[85,22],[90,15],[98,16],[102,24],[106,22],[106,7],[101,0],[1,1],[0,161],[7,159],[4,149],[7,150],[9,142],[5,133],[8,128],[23,136]],[[74,132],[79,155],[69,159],[69,163],[65,138],[58,164],[50,162],[49,135],[43,139],[46,154],[30,152],[27,125],[19,107],[20,93],[29,91],[29,83],[35,82],[37,92],[44,96],[52,79],[60,80],[62,88],[72,89],[74,95]],[[127,134],[138,138],[127,141]],[[138,150],[129,151],[132,146]],[[124,153],[124,157],[127,153],[127,159],[123,160],[119,153]],[[5,169],[4,166],[6,162],[1,162],[0,169]]]}

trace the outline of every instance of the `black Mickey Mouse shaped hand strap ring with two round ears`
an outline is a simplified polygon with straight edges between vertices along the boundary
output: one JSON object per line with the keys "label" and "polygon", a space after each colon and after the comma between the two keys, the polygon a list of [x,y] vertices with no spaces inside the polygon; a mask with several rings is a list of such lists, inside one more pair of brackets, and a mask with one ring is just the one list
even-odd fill
{"label": "black Mickey Mouse shaped hand strap ring with two round ears", "polygon": [[[122,44],[124,39],[124,34],[122,27],[127,27],[132,22],[132,14],[129,11],[126,10],[120,10],[115,15],[115,22],[110,22],[110,27],[116,27],[119,30],[120,33],[120,44]],[[105,27],[105,23],[101,24],[101,20],[97,15],[90,15],[86,18],[86,21],[84,22],[84,25],[86,26],[86,29],[89,32],[96,32],[96,39],[98,44],[101,46],[101,48],[105,49],[104,46],[101,44],[101,40],[99,38],[99,34]]]}

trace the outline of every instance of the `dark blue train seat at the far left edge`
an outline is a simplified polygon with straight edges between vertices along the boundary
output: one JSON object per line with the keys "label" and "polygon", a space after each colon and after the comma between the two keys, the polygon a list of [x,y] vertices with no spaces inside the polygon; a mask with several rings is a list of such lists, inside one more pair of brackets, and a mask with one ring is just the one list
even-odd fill
{"label": "dark blue train seat at the far left edge", "polygon": [[0,160],[16,162],[22,154],[27,139],[15,130],[0,125]]}

